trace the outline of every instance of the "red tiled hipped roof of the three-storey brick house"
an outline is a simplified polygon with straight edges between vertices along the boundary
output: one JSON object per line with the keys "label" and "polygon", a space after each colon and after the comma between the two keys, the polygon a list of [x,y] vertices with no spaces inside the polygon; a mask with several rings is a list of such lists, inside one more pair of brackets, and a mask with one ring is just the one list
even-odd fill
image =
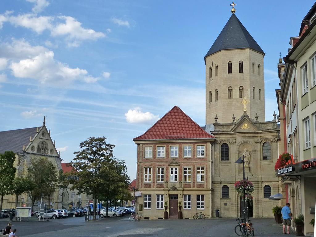
{"label": "red tiled hipped roof of the three-storey brick house", "polygon": [[215,138],[205,132],[178,106],[174,106],[143,135],[133,140]]}

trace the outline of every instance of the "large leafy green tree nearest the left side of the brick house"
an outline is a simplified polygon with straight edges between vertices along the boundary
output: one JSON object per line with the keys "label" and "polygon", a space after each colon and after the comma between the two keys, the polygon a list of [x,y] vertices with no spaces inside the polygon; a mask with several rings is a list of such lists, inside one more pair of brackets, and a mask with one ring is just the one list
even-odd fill
{"label": "large leafy green tree nearest the left side of the brick house", "polygon": [[[120,174],[127,173],[125,162],[114,158],[114,147],[113,144],[106,143],[105,137],[89,137],[88,140],[80,143],[81,150],[74,152],[76,157],[70,163],[74,168],[74,175],[79,177],[78,180],[72,180],[72,189],[78,189],[78,193],[93,195],[93,220],[95,220],[97,198],[100,200],[104,200],[104,197],[108,198],[111,183],[119,180]],[[116,164],[124,164],[125,171],[118,171],[118,167],[115,169]]]}

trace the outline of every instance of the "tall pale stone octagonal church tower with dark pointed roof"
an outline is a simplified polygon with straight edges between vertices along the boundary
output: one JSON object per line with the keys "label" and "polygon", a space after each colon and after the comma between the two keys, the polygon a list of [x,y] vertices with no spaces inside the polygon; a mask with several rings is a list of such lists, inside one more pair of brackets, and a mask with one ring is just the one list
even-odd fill
{"label": "tall pale stone octagonal church tower with dark pointed roof", "polygon": [[243,99],[250,101],[247,114],[260,121],[264,117],[264,52],[241,24],[232,9],[232,15],[209,52],[206,65],[206,124],[231,123],[234,116],[243,115]]}

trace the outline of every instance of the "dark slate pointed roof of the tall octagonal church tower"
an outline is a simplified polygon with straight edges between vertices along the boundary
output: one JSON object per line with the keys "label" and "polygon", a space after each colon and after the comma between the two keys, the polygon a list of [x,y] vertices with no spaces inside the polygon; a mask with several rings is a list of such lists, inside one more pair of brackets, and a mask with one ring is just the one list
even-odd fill
{"label": "dark slate pointed roof of the tall octagonal church tower", "polygon": [[222,32],[219,34],[204,58],[221,50],[244,48],[251,48],[264,54],[262,48],[257,44],[256,40],[252,38],[250,33],[241,24],[237,16],[235,14],[232,14],[232,16],[229,18],[226,25],[222,29]]}

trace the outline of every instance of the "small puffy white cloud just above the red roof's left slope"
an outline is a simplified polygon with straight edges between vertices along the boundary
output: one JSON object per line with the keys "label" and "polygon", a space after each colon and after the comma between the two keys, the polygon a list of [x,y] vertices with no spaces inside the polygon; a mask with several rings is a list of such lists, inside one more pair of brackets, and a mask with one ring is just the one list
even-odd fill
{"label": "small puffy white cloud just above the red roof's left slope", "polygon": [[128,123],[138,124],[150,124],[159,119],[159,115],[154,115],[150,112],[142,112],[140,107],[129,109],[128,112],[125,113],[125,117]]}

